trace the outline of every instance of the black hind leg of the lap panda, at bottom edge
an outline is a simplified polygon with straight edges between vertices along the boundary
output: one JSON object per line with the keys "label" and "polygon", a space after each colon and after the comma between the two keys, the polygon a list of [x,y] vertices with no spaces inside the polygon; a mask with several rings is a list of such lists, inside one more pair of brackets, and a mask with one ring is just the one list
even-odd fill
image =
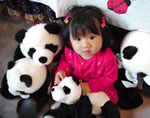
{"label": "black hind leg of the lap panda, at bottom edge", "polygon": [[113,104],[111,101],[107,101],[102,109],[101,118],[120,118],[119,110],[117,106]]}

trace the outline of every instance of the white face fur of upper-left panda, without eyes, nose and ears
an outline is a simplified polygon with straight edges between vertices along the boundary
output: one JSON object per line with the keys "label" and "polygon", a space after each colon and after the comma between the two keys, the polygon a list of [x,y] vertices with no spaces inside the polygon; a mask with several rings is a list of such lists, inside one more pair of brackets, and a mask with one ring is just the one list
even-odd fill
{"label": "white face fur of upper-left panda, without eyes, nose and ears", "polygon": [[[46,24],[40,23],[29,28],[25,34],[23,42],[20,44],[20,49],[25,57],[30,57],[28,55],[30,48],[36,49],[36,52],[33,54],[33,59],[40,65],[50,64],[54,56],[57,55],[62,48],[60,36],[47,32],[44,28],[45,25]],[[50,50],[45,49],[46,44],[58,45],[57,52],[52,53]],[[48,58],[46,63],[39,62],[39,58],[42,56]]]}

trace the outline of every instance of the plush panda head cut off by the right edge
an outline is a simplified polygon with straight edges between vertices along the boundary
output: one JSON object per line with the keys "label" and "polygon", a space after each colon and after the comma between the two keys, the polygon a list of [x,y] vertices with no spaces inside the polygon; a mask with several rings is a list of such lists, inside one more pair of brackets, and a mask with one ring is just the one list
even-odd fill
{"label": "plush panda head cut off by the right edge", "polygon": [[149,73],[150,33],[129,32],[122,41],[120,54],[125,69],[133,73]]}

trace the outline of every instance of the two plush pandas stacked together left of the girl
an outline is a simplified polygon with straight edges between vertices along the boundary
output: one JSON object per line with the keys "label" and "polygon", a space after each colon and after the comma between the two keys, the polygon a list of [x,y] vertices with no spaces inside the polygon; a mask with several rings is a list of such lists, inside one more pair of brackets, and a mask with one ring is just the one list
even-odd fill
{"label": "two plush pandas stacked together left of the girl", "polygon": [[48,86],[52,75],[48,66],[62,49],[60,34],[59,24],[41,23],[28,30],[19,30],[15,35],[19,44],[14,59],[8,62],[1,94],[7,99],[20,98],[17,105],[19,118],[36,117],[49,101]]}

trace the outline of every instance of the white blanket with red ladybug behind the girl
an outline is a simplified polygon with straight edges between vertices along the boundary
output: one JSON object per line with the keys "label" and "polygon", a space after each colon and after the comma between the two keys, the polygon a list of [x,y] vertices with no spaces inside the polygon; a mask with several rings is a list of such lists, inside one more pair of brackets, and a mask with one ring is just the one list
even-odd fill
{"label": "white blanket with red ladybug behind the girl", "polygon": [[[50,6],[61,17],[72,5],[95,5],[110,24],[127,30],[150,32],[150,0],[32,0]],[[112,3],[112,2],[113,3]],[[127,5],[130,3],[129,5]],[[113,5],[115,8],[113,8]],[[113,10],[109,9],[111,7]],[[121,11],[119,13],[119,11]],[[125,12],[125,13],[123,13]]]}

